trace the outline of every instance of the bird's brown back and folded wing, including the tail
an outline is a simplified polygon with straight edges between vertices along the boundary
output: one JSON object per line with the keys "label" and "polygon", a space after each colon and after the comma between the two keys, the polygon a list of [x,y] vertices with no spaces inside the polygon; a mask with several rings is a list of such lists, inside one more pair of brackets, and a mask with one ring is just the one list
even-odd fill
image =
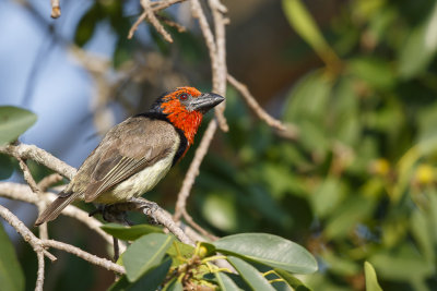
{"label": "bird's brown back and folded wing, including the tail", "polygon": [[90,154],[66,190],[39,215],[35,225],[56,219],[82,194],[86,202],[95,199],[111,186],[172,154],[179,141],[173,125],[161,120],[137,117],[116,125]]}

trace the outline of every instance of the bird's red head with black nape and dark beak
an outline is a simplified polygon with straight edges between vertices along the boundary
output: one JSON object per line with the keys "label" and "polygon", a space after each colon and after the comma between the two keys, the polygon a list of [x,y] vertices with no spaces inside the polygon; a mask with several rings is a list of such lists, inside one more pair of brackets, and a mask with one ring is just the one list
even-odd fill
{"label": "bird's red head with black nape and dark beak", "polygon": [[224,97],[214,93],[201,93],[194,87],[178,87],[157,98],[151,112],[165,116],[173,125],[184,132],[191,145],[203,114],[223,100]]}

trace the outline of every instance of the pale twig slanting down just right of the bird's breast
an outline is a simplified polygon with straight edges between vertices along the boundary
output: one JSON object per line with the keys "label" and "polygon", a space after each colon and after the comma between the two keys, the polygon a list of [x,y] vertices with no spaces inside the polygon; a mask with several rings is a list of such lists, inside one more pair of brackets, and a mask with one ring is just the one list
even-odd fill
{"label": "pale twig slanting down just right of the bird's breast", "polygon": [[176,202],[176,209],[174,215],[174,219],[176,221],[180,219],[180,217],[184,214],[184,209],[186,209],[188,196],[190,195],[190,191],[192,189],[192,185],[194,184],[196,177],[199,174],[200,163],[202,162],[204,156],[208,153],[208,148],[210,147],[211,141],[214,137],[216,129],[217,129],[217,121],[213,119],[210,121],[210,124],[208,124],[206,131],[203,134],[202,141],[200,142],[198,149],[196,150],[194,158],[191,161],[187,174],[185,175],[182,186],[180,187],[180,191],[178,193],[177,196],[178,198]]}

